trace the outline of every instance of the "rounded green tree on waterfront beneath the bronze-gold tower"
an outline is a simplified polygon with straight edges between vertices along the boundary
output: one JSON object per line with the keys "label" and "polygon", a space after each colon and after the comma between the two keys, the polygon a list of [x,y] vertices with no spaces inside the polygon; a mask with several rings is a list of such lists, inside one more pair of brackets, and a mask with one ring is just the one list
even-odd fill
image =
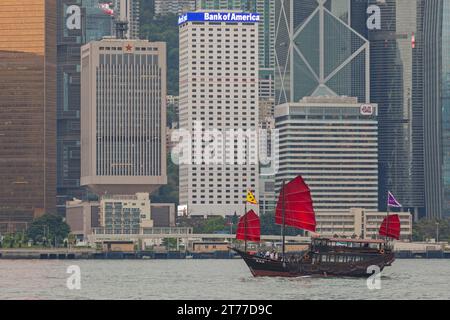
{"label": "rounded green tree on waterfront beneath the bronze-gold tower", "polygon": [[[45,214],[35,219],[27,230],[27,236],[36,242],[61,244],[68,237],[70,227],[61,216]],[[46,241],[45,241],[46,239]]]}

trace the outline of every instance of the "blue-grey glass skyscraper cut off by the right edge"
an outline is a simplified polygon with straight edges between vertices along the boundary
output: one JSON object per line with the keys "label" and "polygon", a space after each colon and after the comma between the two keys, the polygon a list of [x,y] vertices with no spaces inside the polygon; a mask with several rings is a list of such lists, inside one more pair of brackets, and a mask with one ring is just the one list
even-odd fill
{"label": "blue-grey glass skyscraper cut off by the right edge", "polygon": [[425,205],[450,216],[450,1],[424,3]]}

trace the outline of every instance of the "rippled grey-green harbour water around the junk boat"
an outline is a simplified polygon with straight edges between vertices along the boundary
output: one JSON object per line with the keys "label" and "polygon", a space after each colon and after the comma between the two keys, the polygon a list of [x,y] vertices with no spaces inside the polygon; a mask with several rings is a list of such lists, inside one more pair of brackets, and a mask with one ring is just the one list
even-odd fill
{"label": "rippled grey-green harbour water around the junk boat", "polygon": [[[69,290],[78,265],[81,290]],[[365,279],[253,278],[242,260],[0,260],[0,299],[450,299],[450,260],[397,260]]]}

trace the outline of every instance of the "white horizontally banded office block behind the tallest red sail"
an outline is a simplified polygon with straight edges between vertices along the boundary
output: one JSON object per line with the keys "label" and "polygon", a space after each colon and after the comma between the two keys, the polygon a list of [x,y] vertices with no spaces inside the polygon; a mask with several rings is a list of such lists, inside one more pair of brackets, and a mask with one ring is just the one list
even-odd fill
{"label": "white horizontally banded office block behind the tallest red sail", "polygon": [[378,209],[376,105],[357,98],[305,97],[278,105],[280,168],[276,189],[302,175],[321,213]]}

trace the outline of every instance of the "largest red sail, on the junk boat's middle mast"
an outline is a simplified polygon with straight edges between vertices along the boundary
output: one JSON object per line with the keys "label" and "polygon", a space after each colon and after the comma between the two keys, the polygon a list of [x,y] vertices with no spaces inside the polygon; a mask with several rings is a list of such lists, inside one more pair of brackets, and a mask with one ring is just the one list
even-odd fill
{"label": "largest red sail, on the junk boat's middle mast", "polygon": [[311,191],[301,176],[284,186],[278,197],[275,222],[283,224],[283,192],[285,224],[302,230],[316,232],[316,214],[314,212]]}

